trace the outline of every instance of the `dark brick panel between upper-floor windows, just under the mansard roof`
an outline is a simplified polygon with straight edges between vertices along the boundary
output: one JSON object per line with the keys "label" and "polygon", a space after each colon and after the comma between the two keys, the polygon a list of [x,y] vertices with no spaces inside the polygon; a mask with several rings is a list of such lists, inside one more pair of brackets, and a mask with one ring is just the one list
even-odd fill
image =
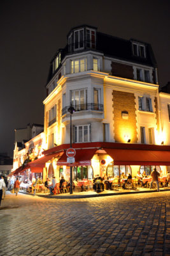
{"label": "dark brick panel between upper-floor windows, just under the mansard roof", "polygon": [[111,74],[112,76],[124,77],[128,79],[134,79],[132,66],[111,62]]}

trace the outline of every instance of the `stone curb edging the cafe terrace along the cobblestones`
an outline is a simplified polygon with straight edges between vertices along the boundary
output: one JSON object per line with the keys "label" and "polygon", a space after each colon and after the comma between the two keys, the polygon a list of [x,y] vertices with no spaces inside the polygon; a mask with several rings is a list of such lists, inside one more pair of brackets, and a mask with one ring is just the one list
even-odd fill
{"label": "stone curb edging the cafe terrace along the cobblestones", "polygon": [[[170,189],[164,189],[161,190],[160,192],[164,191],[170,191]],[[110,193],[110,194],[94,194],[94,195],[66,195],[66,196],[58,196],[58,195],[36,195],[39,197],[45,197],[45,198],[55,198],[55,199],[77,199],[77,198],[92,198],[92,197],[101,197],[101,196],[117,196],[117,195],[129,195],[129,194],[140,194],[140,193],[155,193],[157,190],[148,190],[148,191],[132,191],[132,192],[118,192],[118,193]],[[19,193],[25,194],[25,195],[31,195],[34,196],[33,194],[26,193],[20,191]]]}

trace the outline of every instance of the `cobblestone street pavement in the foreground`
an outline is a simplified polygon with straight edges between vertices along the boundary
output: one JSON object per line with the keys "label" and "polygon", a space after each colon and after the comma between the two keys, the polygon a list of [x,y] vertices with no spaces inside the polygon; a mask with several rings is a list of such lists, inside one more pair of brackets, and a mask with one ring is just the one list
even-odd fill
{"label": "cobblestone street pavement in the foreground", "polygon": [[6,195],[0,255],[170,255],[170,192],[50,199]]}

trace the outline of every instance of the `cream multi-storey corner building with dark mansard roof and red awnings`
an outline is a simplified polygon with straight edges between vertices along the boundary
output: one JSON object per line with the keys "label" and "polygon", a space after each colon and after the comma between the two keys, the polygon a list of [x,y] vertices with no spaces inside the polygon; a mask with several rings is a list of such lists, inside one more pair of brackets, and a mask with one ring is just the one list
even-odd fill
{"label": "cream multi-storey corner building with dark mansard roof and red awnings", "polygon": [[[150,44],[106,35],[87,25],[71,29],[66,47],[50,63],[46,84],[48,162],[43,177],[50,173],[69,179],[70,120],[76,150],[73,179],[118,177],[122,172],[135,176],[138,170],[149,175],[155,166],[166,175],[169,103],[168,93],[159,96]],[[71,105],[73,115],[68,111]]]}

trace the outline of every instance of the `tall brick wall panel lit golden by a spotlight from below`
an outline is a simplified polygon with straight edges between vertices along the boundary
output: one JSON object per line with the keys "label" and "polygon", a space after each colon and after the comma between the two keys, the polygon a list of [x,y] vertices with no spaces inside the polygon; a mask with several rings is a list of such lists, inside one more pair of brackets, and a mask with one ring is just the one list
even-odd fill
{"label": "tall brick wall panel lit golden by a spotlight from below", "polygon": [[134,93],[113,90],[112,94],[115,142],[127,143],[127,140],[131,139],[131,143],[137,143]]}

